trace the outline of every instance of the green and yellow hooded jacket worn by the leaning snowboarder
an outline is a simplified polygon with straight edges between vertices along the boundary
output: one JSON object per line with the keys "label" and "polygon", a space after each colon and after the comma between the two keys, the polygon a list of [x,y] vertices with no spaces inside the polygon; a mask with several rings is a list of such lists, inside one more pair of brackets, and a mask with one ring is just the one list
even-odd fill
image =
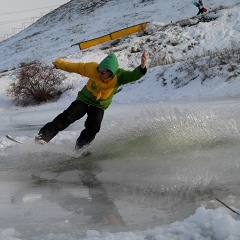
{"label": "green and yellow hooded jacket worn by the leaning snowboarder", "polygon": [[[104,110],[111,104],[119,86],[139,80],[147,72],[146,68],[142,69],[140,66],[132,71],[119,68],[118,59],[114,53],[109,54],[99,64],[96,62],[72,63],[60,58],[54,64],[58,69],[88,77],[87,84],[78,92],[77,100]],[[97,71],[98,68],[110,70],[112,76],[103,82]]]}

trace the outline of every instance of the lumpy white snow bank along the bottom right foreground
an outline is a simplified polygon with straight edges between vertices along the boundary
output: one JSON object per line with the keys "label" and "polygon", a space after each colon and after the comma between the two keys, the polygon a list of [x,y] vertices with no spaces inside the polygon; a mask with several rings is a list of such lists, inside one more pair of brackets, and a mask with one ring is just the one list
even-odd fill
{"label": "lumpy white snow bank along the bottom right foreground", "polygon": [[104,239],[104,240],[202,240],[202,239],[239,239],[239,222],[235,216],[226,215],[227,211],[223,208],[216,210],[206,210],[204,207],[197,209],[196,214],[185,219],[183,222],[175,222],[168,226],[161,226],[153,230],[144,232],[102,234],[96,231],[88,231],[85,239]]}

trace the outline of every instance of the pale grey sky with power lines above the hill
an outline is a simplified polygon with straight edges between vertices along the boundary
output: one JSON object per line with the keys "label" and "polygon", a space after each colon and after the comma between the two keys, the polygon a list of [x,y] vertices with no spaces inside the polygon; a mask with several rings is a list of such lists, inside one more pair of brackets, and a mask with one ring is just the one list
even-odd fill
{"label": "pale grey sky with power lines above the hill", "polygon": [[69,0],[0,0],[0,41],[67,2]]}

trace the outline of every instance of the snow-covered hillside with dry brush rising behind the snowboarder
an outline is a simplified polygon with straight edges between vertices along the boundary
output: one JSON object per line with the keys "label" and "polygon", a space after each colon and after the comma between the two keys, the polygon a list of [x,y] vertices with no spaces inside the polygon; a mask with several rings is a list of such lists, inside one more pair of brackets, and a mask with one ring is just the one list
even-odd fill
{"label": "snow-covered hillside with dry brush rising behind the snowboarder", "polygon": [[[196,17],[197,8],[189,1],[77,1],[59,7],[26,30],[0,43],[0,71],[18,68],[34,60],[51,62],[57,57],[72,61],[101,61],[115,52],[120,66],[132,68],[139,64],[141,52],[148,53],[148,74],[128,101],[154,101],[181,97],[232,96],[239,94],[239,52],[225,64],[216,49],[239,51],[239,1],[208,1],[209,12]],[[121,11],[119,11],[121,9]],[[107,13],[107,14],[106,14]],[[102,36],[112,31],[149,21],[143,33],[110,41],[84,51],[71,45]],[[222,67],[219,67],[221,65]],[[12,77],[1,75],[4,81],[2,97]],[[74,76],[75,77],[75,76]],[[72,98],[84,83],[74,80]],[[77,77],[76,79],[81,79]],[[144,81],[144,80],[148,81]],[[193,81],[196,80],[196,81]],[[188,85],[189,82],[194,84]],[[231,84],[229,84],[231,83]],[[187,85],[187,87],[186,87]],[[182,88],[182,86],[185,86]],[[227,88],[226,88],[227,86]],[[206,88],[207,87],[207,88]],[[212,88],[213,87],[213,88]],[[131,85],[124,87],[128,91]],[[145,92],[135,98],[134,91]],[[177,89],[172,94],[172,90]],[[75,94],[75,95],[74,95]],[[139,94],[138,94],[139,95]],[[122,91],[115,98],[121,101]],[[9,99],[8,99],[9,101]],[[65,101],[65,100],[64,100]],[[9,104],[6,103],[7,105]]]}

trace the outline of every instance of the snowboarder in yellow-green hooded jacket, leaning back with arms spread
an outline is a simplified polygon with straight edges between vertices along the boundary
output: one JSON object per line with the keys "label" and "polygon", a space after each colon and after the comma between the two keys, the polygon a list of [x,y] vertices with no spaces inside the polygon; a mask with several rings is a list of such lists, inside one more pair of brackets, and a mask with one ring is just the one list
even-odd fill
{"label": "snowboarder in yellow-green hooded jacket, leaning back with arms spread", "polygon": [[99,64],[96,62],[66,62],[58,58],[53,62],[57,69],[78,73],[89,79],[82,90],[78,92],[77,99],[52,122],[40,129],[35,141],[41,144],[49,142],[59,131],[87,114],[85,129],[76,141],[75,150],[78,151],[91,143],[100,131],[104,112],[111,104],[114,93],[120,85],[136,81],[144,76],[147,72],[146,62],[145,51],[141,57],[141,65],[133,71],[119,68],[118,59],[114,53],[109,54]]}

